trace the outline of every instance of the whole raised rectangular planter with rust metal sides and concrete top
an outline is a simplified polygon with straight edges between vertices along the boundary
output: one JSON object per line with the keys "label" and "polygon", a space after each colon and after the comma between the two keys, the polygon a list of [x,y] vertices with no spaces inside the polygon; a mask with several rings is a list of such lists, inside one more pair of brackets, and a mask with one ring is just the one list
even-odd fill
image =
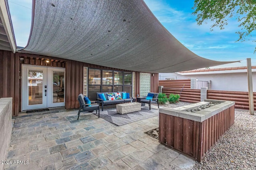
{"label": "whole raised rectangular planter with rust metal sides and concrete top", "polygon": [[[188,112],[202,105],[215,106]],[[187,106],[159,109],[159,142],[199,162],[206,152],[234,124],[235,102],[204,100]]]}

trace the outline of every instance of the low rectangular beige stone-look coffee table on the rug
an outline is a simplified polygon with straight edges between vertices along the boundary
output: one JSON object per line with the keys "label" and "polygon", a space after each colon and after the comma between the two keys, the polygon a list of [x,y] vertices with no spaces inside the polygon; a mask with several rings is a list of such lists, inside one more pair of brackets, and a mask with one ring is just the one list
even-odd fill
{"label": "low rectangular beige stone-look coffee table on the rug", "polygon": [[116,105],[116,112],[119,114],[132,113],[134,111],[141,110],[141,103],[132,102],[132,103],[123,103]]}

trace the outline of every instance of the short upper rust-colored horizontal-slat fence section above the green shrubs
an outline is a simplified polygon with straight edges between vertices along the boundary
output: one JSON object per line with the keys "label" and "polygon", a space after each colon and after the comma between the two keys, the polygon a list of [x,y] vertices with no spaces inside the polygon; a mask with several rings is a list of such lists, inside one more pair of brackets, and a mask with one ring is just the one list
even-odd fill
{"label": "short upper rust-colored horizontal-slat fence section above the green shrubs", "polygon": [[159,86],[164,86],[164,88],[184,88],[190,89],[190,79],[185,80],[159,80]]}

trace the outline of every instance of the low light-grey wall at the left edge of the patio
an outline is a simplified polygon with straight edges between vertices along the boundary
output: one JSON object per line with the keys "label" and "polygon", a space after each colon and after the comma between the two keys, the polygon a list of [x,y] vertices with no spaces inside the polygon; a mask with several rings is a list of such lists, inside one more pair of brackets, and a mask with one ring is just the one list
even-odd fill
{"label": "low light-grey wall at the left edge of the patio", "polygon": [[[0,160],[6,160],[12,135],[12,98],[0,98]],[[4,164],[0,164],[0,170]]]}

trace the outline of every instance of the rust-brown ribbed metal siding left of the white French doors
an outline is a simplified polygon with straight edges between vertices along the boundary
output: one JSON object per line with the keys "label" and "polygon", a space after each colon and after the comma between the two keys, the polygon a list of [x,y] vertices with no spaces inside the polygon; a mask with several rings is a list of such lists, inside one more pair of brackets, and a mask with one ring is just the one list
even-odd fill
{"label": "rust-brown ribbed metal siding left of the white French doors", "polygon": [[17,116],[20,104],[19,69],[16,54],[0,50],[0,98],[12,97],[12,115]]}

